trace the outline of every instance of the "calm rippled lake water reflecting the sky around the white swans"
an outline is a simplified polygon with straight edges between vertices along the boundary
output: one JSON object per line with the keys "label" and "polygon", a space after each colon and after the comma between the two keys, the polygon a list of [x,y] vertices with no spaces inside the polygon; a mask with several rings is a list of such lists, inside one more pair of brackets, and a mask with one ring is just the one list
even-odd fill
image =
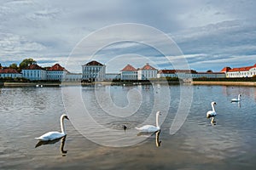
{"label": "calm rippled lake water reflecting the sky around the white swans", "polygon": [[[75,87],[69,87],[75,88]],[[84,138],[65,121],[67,138],[35,148],[34,139],[43,133],[60,130],[59,117],[65,113],[61,88],[0,88],[0,169],[255,169],[256,168],[256,88],[226,86],[101,86],[111,93],[115,105],[129,104],[126,94],[140,92],[134,100],[143,102],[136,114],[128,117],[102,115],[93,97],[95,87],[81,90],[86,107],[95,112],[104,127],[129,133],[148,117],[154,100],[170,90],[168,115],[161,125],[157,147],[155,134],[129,147],[106,147]],[[193,90],[193,102],[183,127],[170,135],[179,104],[180,89]],[[168,90],[167,90],[168,89]],[[241,94],[241,103],[230,99]],[[206,117],[210,103],[216,101],[216,125]],[[164,104],[165,101],[158,101]],[[106,104],[107,105],[107,104]],[[131,103],[137,105],[137,103]],[[133,108],[131,108],[132,110]],[[158,108],[160,109],[160,108]],[[152,123],[154,124],[154,117]],[[90,127],[93,128],[93,127]],[[104,134],[102,134],[104,135]],[[116,140],[119,140],[117,137]]]}

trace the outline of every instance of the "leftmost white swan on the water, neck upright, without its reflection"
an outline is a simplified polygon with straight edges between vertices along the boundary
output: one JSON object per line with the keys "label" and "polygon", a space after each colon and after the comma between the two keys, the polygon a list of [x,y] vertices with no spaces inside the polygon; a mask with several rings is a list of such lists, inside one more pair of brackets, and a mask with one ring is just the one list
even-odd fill
{"label": "leftmost white swan on the water, neck upright, without its reflection", "polygon": [[49,140],[54,140],[54,139],[60,139],[63,136],[66,136],[66,132],[65,132],[65,128],[64,128],[64,118],[69,120],[67,115],[61,115],[61,133],[60,132],[49,132],[49,133],[45,133],[42,136],[35,138],[35,139],[38,139],[40,141],[49,141]]}

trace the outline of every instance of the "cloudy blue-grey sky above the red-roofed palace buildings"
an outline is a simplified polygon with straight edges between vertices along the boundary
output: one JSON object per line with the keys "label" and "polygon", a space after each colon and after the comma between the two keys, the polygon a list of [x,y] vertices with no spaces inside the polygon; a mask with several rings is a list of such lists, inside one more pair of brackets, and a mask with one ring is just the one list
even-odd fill
{"label": "cloudy blue-grey sky above the red-roofed palace buildings", "polygon": [[[157,50],[138,42],[112,42],[96,54],[89,53],[91,34],[106,26],[137,23],[171,37],[191,69],[220,71],[227,65],[254,65],[255,8],[254,0],[0,0],[0,63],[8,66],[33,58],[38,65],[60,63],[79,72],[81,65],[97,59],[108,66],[108,72],[145,62],[172,69]],[[134,31],[136,36],[139,33]],[[101,38],[111,42],[108,32],[90,42],[102,42]],[[76,54],[80,43],[84,51],[68,57]]]}

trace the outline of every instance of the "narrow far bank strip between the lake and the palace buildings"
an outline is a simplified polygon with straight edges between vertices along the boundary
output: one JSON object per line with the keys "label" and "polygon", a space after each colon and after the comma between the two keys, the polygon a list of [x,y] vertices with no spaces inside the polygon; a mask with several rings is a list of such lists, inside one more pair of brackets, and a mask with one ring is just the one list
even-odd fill
{"label": "narrow far bank strip between the lake and the palace buildings", "polygon": [[[154,83],[166,83],[166,82],[154,82]],[[81,83],[81,82],[3,82],[0,83],[0,87],[36,87],[36,85],[43,85],[43,87],[61,87],[63,86],[86,86],[86,85],[148,85],[150,82],[93,82],[93,83]],[[177,82],[169,83],[169,85],[177,85]],[[183,83],[187,84],[187,83]],[[256,82],[207,82],[207,81],[193,81],[189,84],[192,85],[222,85],[222,86],[253,86],[256,87]]]}

